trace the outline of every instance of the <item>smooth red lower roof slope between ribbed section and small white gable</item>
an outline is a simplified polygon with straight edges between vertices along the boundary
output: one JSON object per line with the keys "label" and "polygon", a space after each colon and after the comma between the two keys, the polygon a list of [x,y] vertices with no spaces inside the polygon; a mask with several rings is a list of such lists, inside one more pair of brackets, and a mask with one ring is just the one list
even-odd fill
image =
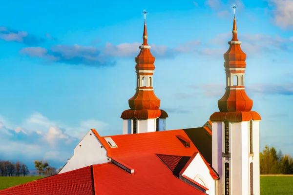
{"label": "smooth red lower roof slope between ribbed section and small white gable", "polygon": [[155,158],[156,161],[146,158],[144,169],[135,169],[133,175],[111,163],[93,165],[95,195],[205,195],[173,176],[160,159]]}

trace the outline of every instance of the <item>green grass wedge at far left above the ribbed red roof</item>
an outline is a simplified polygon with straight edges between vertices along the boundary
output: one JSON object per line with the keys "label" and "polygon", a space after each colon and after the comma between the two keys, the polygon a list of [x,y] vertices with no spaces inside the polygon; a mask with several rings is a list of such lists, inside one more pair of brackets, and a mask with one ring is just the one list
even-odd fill
{"label": "green grass wedge at far left above the ribbed red roof", "polygon": [[41,179],[45,176],[11,176],[3,177],[0,176],[0,190],[10,188],[12,186],[17,186],[23,183]]}

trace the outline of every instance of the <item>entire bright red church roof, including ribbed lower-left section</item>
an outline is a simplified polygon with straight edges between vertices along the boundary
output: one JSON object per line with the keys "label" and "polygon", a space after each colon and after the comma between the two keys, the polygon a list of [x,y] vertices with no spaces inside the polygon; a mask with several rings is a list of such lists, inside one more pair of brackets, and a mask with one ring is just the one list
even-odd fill
{"label": "entire bright red church roof, including ribbed lower-left section", "polygon": [[104,137],[93,132],[107,150],[107,156],[128,168],[131,166],[133,174],[116,164],[104,163],[3,190],[0,195],[204,195],[174,176],[156,155],[183,156],[175,167],[179,158],[169,161],[164,158],[179,174],[188,161],[179,168],[182,159],[198,152],[193,143],[186,148],[176,137],[188,139],[184,130],[110,136],[117,148],[111,148]]}

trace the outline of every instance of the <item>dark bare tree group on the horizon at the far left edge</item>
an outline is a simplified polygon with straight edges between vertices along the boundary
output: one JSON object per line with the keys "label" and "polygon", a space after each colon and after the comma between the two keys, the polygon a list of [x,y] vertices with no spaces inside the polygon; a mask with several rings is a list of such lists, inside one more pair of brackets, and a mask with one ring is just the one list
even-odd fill
{"label": "dark bare tree group on the horizon at the far left edge", "polygon": [[28,174],[28,168],[24,163],[0,160],[0,176],[27,176]]}

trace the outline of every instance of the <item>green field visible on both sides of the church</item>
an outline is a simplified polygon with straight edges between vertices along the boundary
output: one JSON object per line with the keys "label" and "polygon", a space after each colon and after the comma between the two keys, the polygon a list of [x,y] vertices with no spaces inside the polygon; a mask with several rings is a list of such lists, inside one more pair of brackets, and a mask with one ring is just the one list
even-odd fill
{"label": "green field visible on both sides of the church", "polygon": [[[20,185],[44,176],[0,177],[0,190]],[[293,195],[293,176],[260,176],[261,195]]]}

